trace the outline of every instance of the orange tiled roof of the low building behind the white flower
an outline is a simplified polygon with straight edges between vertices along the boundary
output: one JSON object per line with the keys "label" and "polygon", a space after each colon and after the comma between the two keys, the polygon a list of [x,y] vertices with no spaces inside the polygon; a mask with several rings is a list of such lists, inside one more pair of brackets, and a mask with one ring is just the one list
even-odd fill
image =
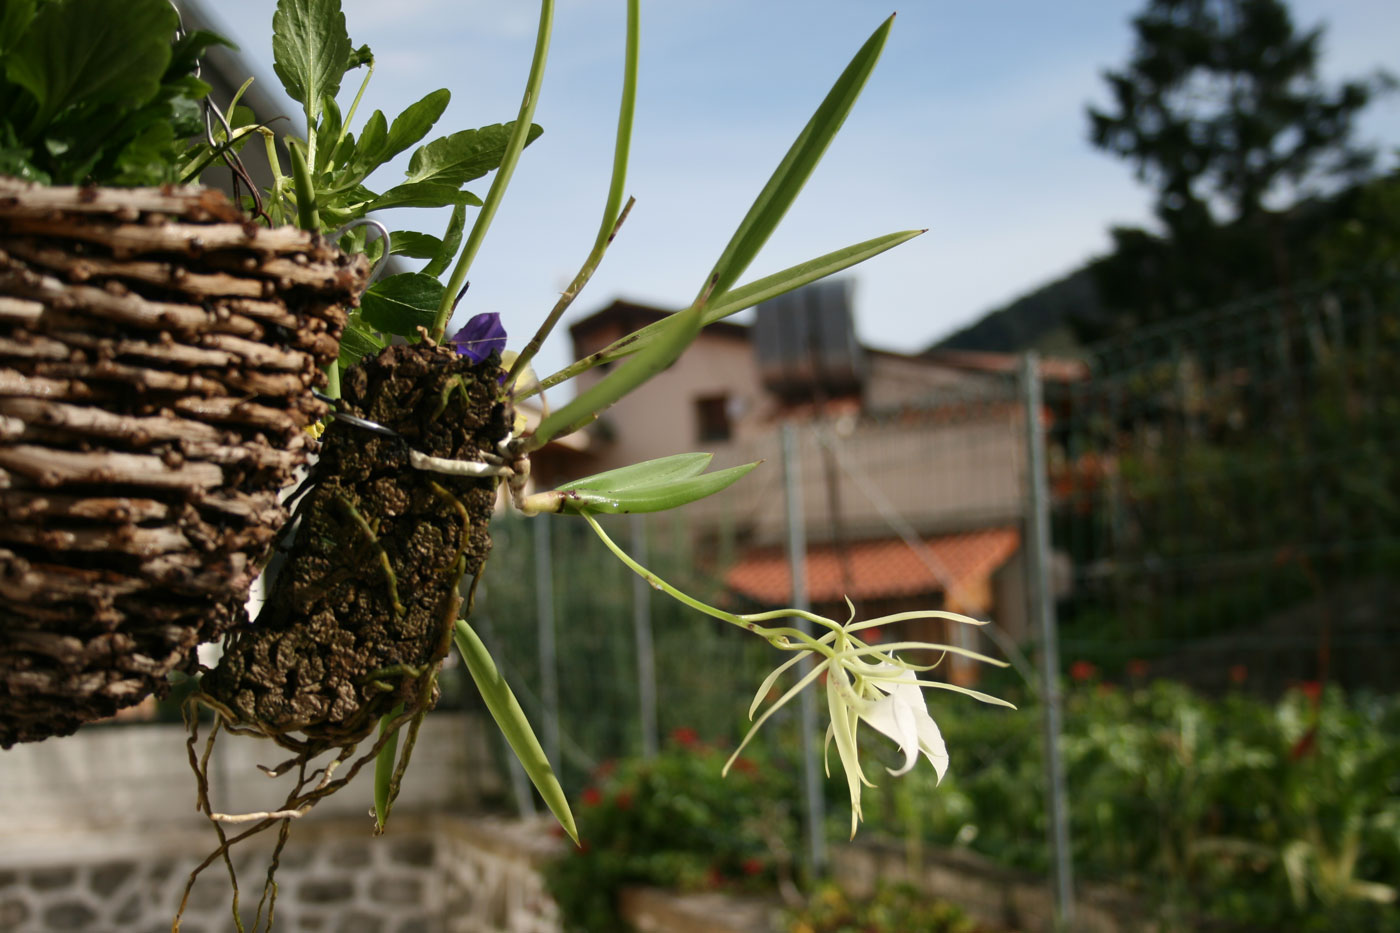
{"label": "orange tiled roof of the low building behind the white flower", "polygon": [[[812,602],[832,602],[844,595],[883,600],[946,593],[984,580],[1021,546],[1015,528],[983,528],[924,538],[920,553],[899,538],[855,541],[844,548],[851,588],[841,581],[841,559],[832,545],[806,551],[806,588]],[[792,586],[787,552],[762,548],[746,553],[724,577],[736,593],[764,604],[788,605]]]}

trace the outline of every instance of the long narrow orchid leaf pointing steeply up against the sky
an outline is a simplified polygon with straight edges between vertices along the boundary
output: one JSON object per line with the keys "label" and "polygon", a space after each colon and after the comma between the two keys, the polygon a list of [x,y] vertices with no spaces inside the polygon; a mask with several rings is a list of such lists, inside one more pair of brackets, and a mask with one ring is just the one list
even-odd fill
{"label": "long narrow orchid leaf pointing steeply up against the sky", "polygon": [[860,97],[865,80],[875,69],[875,62],[879,60],[879,53],[885,48],[885,39],[893,24],[895,17],[890,15],[865,41],[841,76],[836,78],[836,84],[827,91],[812,119],[802,127],[787,156],[778,163],[769,184],[759,192],[749,213],[739,221],[734,237],[729,238],[720,259],[715,261],[714,269],[700,286],[700,296],[728,291],[753,262],[753,256],[763,248],[763,244],[769,241],[773,230],[812,175],[812,170],[822,160],[826,147],[841,129],[851,106],[855,105],[855,98]]}

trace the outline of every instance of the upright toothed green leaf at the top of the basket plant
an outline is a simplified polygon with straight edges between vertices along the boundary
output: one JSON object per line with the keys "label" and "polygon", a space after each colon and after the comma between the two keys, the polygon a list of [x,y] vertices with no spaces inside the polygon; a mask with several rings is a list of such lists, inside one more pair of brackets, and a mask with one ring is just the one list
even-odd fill
{"label": "upright toothed green leaf at the top of the basket plant", "polygon": [[308,132],[316,125],[321,101],[340,92],[353,52],[340,0],[277,0],[273,70],[287,95],[307,108]]}

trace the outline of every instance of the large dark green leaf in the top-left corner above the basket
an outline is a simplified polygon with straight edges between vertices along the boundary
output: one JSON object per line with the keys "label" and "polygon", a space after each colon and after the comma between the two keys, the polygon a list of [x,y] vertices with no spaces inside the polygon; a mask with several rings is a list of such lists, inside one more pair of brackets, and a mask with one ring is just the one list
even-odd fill
{"label": "large dark green leaf in the top-left corner above the basket", "polygon": [[43,127],[77,102],[136,106],[155,97],[178,24],[167,0],[70,0],[39,7],[4,62],[10,81],[38,101],[31,127]]}

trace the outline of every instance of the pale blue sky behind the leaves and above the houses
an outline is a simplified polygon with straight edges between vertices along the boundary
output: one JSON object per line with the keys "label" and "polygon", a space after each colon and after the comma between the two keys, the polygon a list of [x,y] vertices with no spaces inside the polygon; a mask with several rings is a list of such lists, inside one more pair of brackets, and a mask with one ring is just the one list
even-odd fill
{"label": "pale blue sky behind the leaves and above the houses", "polygon": [[[351,39],[375,52],[361,113],[395,113],[438,87],[434,134],[511,119],[538,7],[522,0],[342,0]],[[244,0],[227,32],[276,85],[274,0]],[[1113,224],[1149,223],[1128,165],[1085,141],[1100,71],[1131,52],[1141,0],[916,0],[841,136],[745,279],[883,233],[928,233],[855,268],[857,326],[917,352],[998,304],[1103,252]],[[459,318],[500,311],[519,345],[582,262],[602,210],[622,69],[623,3],[559,0],[536,122],[472,270]],[[896,8],[868,0],[643,3],[641,81],[627,192],[637,206],[570,317],[615,297],[680,307],[865,36]],[[1295,0],[1329,24],[1324,73],[1400,71],[1400,3]],[[280,88],[279,88],[280,90]],[[343,88],[347,106],[354,88]],[[368,108],[368,109],[365,109]],[[288,109],[291,109],[288,106]],[[363,116],[360,118],[363,120]],[[356,127],[357,129],[357,127]],[[1400,95],[1364,137],[1400,147]],[[1386,164],[1394,161],[1386,157]],[[382,184],[393,184],[389,172]],[[477,195],[486,185],[477,182]],[[441,233],[407,212],[391,226]],[[567,322],[568,318],[566,318]],[[742,318],[741,318],[742,319]],[[540,357],[567,361],[560,333]]]}

